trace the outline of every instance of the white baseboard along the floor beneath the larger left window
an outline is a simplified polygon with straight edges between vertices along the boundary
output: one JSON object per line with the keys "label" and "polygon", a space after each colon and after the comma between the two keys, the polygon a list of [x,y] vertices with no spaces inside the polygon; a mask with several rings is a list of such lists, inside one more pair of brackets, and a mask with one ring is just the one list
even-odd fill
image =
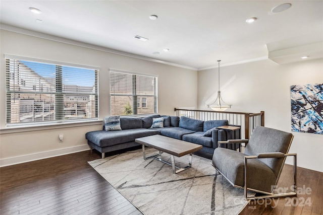
{"label": "white baseboard along the floor beneath the larger left window", "polygon": [[86,151],[89,149],[90,149],[90,147],[86,144],[86,145],[81,145],[81,146],[76,146],[76,147],[69,147],[69,148],[51,150],[51,151],[34,153],[34,154],[29,154],[29,155],[4,158],[4,159],[0,159],[0,167],[26,163],[26,162],[30,162],[30,161],[45,159],[45,158],[52,158],[52,157],[72,154],[72,153],[76,153],[76,152],[82,152],[82,151]]}

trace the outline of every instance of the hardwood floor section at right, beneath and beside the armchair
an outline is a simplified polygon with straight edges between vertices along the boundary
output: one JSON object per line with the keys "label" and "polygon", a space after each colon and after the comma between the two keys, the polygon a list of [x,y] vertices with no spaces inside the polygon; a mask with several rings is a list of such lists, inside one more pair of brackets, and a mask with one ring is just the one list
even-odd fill
{"label": "hardwood floor section at right, beneath and beside the armchair", "polygon": [[[297,196],[252,200],[240,214],[323,214],[323,173],[298,167],[297,176]],[[293,179],[293,166],[285,165],[278,188],[290,192]]]}

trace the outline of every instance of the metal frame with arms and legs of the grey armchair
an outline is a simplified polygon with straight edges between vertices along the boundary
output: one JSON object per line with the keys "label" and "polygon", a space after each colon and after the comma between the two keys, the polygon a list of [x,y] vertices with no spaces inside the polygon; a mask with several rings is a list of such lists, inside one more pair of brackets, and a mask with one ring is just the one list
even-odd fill
{"label": "metal frame with arms and legs of the grey armchair", "polygon": [[[292,142],[293,138],[291,139]],[[248,144],[248,139],[229,139],[227,141],[219,141],[218,142],[218,146],[220,147],[220,144],[241,144],[242,142],[244,142],[246,145]],[[290,145],[291,145],[290,142]],[[288,152],[288,151],[287,151]],[[286,157],[288,156],[293,156],[294,157],[294,186],[293,186],[293,192],[288,192],[288,193],[274,193],[275,189],[277,188],[277,183],[278,180],[281,176],[284,164],[285,164],[285,160]],[[283,165],[281,166],[281,169],[279,171],[279,174],[277,176],[274,188],[272,189],[273,192],[265,192],[265,191],[261,191],[261,190],[256,190],[256,189],[252,189],[252,188],[248,188],[248,183],[247,183],[247,179],[248,179],[248,160],[249,159],[262,159],[262,158],[284,158],[284,162]],[[212,163],[211,163],[212,164]],[[212,164],[213,166],[213,164]],[[216,167],[214,167],[216,168]],[[260,153],[258,155],[254,155],[254,156],[245,156],[244,157],[244,187],[238,186],[233,184],[218,168],[216,168],[217,172],[219,172],[227,181],[229,181],[229,183],[237,188],[240,189],[244,189],[244,197],[246,200],[252,200],[252,199],[260,199],[260,198],[279,198],[279,197],[287,197],[287,196],[296,196],[297,195],[297,154],[293,153],[293,154],[284,154],[281,152],[275,152],[275,153]],[[261,196],[250,196],[248,197],[248,190],[254,191],[254,192],[258,192],[258,193],[263,193],[265,195],[261,195]]]}

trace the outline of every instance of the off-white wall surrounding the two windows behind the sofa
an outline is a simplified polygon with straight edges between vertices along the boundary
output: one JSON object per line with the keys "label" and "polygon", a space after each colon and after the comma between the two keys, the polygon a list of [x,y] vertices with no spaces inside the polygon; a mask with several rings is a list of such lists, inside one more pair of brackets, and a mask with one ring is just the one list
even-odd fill
{"label": "off-white wall surrounding the two windows behind the sofa", "polygon": [[[37,33],[35,33],[37,35]],[[43,36],[43,35],[41,35]],[[55,38],[55,37],[48,37]],[[143,59],[113,54],[82,47],[60,38],[59,41],[1,30],[0,74],[0,165],[26,162],[33,159],[58,156],[87,150],[85,133],[102,128],[101,122],[74,126],[49,126],[41,129],[6,128],[5,110],[5,60],[4,54],[47,59],[100,67],[99,71],[99,118],[110,114],[109,69],[134,71],[158,76],[158,112],[174,115],[175,107],[196,107],[197,71],[175,67]],[[68,42],[68,41],[67,41]],[[175,93],[176,92],[176,93]],[[30,131],[31,130],[31,131]],[[63,133],[65,141],[59,142]]]}

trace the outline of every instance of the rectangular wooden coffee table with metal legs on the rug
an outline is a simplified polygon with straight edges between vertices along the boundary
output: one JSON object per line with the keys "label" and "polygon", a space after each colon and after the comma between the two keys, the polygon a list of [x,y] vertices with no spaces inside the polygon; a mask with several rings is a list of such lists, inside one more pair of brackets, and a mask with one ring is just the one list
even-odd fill
{"label": "rectangular wooden coffee table with metal legs on the rug", "polygon": [[[141,138],[136,138],[135,141],[138,144],[142,145],[142,153],[143,153],[144,160],[153,158],[153,159],[161,161],[165,164],[168,164],[173,167],[174,174],[182,172],[183,170],[190,168],[192,166],[192,153],[199,151],[200,149],[203,148],[201,145],[198,145],[198,144],[192,144],[191,142],[187,142],[187,141],[183,141],[183,140],[179,140],[179,139],[174,139],[174,138],[167,137],[167,136],[161,136],[158,134],[152,135],[152,136],[145,136],[145,137],[141,137]],[[153,155],[153,156],[146,157],[145,146],[159,150],[159,153],[156,155]],[[169,163],[167,161],[161,160],[160,158],[157,158],[163,152],[171,155],[172,163]],[[181,167],[178,167],[175,165],[174,156],[182,157],[182,156],[188,155],[188,154],[189,154],[188,166],[181,168]]]}

